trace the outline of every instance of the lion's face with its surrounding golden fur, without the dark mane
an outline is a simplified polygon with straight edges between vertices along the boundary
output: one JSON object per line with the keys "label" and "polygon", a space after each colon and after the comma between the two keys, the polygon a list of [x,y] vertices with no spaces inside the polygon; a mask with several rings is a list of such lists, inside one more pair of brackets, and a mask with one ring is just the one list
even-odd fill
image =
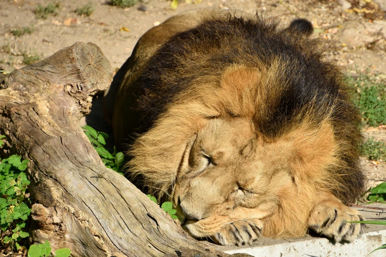
{"label": "lion's face with its surrounding golden fur, without the dark mane", "polygon": [[266,76],[270,70],[229,67],[219,85],[180,96],[129,151],[132,174],[144,175],[154,194],[170,194],[195,237],[227,244],[222,229],[240,220],[252,227],[266,221],[265,235],[299,236],[316,188],[333,183],[326,168],[336,161],[336,142],[328,120],[313,125],[302,117],[297,129],[283,128],[275,138],[259,131],[265,114],[257,101],[268,100],[263,92],[273,86]]}

